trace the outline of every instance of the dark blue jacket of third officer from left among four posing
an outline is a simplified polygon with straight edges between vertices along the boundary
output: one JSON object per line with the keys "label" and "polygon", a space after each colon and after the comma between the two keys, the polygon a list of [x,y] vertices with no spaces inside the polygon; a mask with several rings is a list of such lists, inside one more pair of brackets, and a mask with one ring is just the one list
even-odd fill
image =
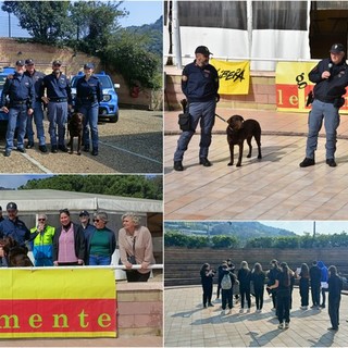
{"label": "dark blue jacket of third officer from left among four posing", "polygon": [[54,98],[66,98],[67,102],[72,103],[72,89],[64,74],[61,73],[58,78],[54,73],[46,75],[41,83],[40,98],[44,97],[45,88],[47,88],[47,97],[52,98],[53,101]]}

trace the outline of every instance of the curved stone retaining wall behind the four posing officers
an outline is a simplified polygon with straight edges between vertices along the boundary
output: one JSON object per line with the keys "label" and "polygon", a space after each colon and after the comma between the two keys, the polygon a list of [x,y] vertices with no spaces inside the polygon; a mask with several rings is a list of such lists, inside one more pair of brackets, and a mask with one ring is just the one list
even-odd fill
{"label": "curved stone retaining wall behind the four posing officers", "polygon": [[117,89],[119,103],[127,108],[161,110],[162,92],[153,92],[150,89],[140,90],[137,98],[130,96],[129,86],[126,85],[122,75],[112,71],[109,66],[100,64],[97,57],[90,57],[82,52],[74,52],[70,48],[57,48],[40,44],[21,42],[15,38],[0,38],[0,66],[14,66],[20,59],[34,59],[36,67],[46,74],[52,72],[52,62],[55,59],[62,61],[62,69],[70,77],[83,70],[86,62],[92,62],[96,66],[96,72],[105,71],[112,76],[114,84],[120,84]]}

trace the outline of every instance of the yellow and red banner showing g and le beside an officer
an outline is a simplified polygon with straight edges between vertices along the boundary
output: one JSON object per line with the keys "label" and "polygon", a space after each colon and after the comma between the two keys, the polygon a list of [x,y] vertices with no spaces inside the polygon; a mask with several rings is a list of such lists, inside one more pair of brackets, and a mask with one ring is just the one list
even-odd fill
{"label": "yellow and red banner showing g and le beside an officer", "polygon": [[[276,105],[278,111],[308,112],[308,95],[314,88],[308,74],[316,65],[309,62],[278,62],[275,72]],[[347,102],[339,109],[347,113]]]}

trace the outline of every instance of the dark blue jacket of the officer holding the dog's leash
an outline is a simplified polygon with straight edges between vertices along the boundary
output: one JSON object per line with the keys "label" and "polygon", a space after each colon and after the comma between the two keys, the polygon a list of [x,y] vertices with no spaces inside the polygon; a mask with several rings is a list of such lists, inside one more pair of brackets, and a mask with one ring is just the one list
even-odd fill
{"label": "dark blue jacket of the officer holding the dog's leash", "polygon": [[188,102],[214,100],[219,90],[219,76],[216,69],[211,65],[202,67],[196,61],[186,65],[183,70],[182,90]]}

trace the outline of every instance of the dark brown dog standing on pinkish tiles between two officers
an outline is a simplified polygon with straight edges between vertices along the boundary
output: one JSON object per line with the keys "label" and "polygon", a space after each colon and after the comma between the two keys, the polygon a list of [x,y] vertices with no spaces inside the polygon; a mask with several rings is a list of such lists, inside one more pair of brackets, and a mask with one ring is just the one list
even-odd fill
{"label": "dark brown dog standing on pinkish tiles between two officers", "polygon": [[233,115],[227,120],[228,127],[226,129],[227,132],[227,141],[229,145],[229,153],[231,153],[231,162],[228,165],[233,165],[234,161],[234,146],[239,146],[239,158],[237,162],[237,166],[241,166],[241,157],[243,157],[243,147],[244,147],[244,140],[247,139],[247,144],[249,146],[249,153],[247,158],[251,157],[251,138],[254,137],[259,156],[258,159],[262,159],[261,154],[261,126],[260,123],[256,120],[246,120],[240,115]]}

